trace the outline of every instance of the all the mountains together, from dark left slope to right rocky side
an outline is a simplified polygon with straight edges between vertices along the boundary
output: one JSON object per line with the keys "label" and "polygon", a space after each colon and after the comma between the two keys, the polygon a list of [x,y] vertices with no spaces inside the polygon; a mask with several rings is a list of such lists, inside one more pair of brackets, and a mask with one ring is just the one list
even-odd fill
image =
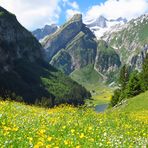
{"label": "all the mountains together, from dark left slope to right rocky side", "polygon": [[115,82],[125,64],[140,71],[147,52],[147,14],[131,21],[99,16],[87,22],[76,14],[60,27],[46,25],[31,33],[0,7],[3,98],[20,96],[29,104],[48,106],[83,104],[91,97],[84,81]]}

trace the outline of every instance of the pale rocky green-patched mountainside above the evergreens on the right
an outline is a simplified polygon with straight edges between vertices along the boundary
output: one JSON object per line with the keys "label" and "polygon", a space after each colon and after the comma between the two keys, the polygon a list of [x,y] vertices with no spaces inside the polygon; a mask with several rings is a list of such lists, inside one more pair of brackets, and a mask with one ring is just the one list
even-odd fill
{"label": "pale rocky green-patched mountainside above the evergreens on the right", "polygon": [[142,61],[148,52],[148,15],[133,19],[118,30],[106,32],[102,39],[116,49],[122,64],[141,69]]}

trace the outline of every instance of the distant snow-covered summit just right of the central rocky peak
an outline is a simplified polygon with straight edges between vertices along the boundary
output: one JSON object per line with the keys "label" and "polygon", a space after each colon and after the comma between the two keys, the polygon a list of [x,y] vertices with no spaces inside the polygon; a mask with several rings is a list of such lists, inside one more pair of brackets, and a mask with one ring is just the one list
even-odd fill
{"label": "distant snow-covered summit just right of the central rocky peak", "polygon": [[105,32],[109,31],[110,29],[118,28],[121,25],[127,23],[126,18],[119,17],[117,19],[108,20],[104,16],[99,16],[93,20],[84,20],[84,23],[91,31],[95,34],[97,39],[100,39]]}

